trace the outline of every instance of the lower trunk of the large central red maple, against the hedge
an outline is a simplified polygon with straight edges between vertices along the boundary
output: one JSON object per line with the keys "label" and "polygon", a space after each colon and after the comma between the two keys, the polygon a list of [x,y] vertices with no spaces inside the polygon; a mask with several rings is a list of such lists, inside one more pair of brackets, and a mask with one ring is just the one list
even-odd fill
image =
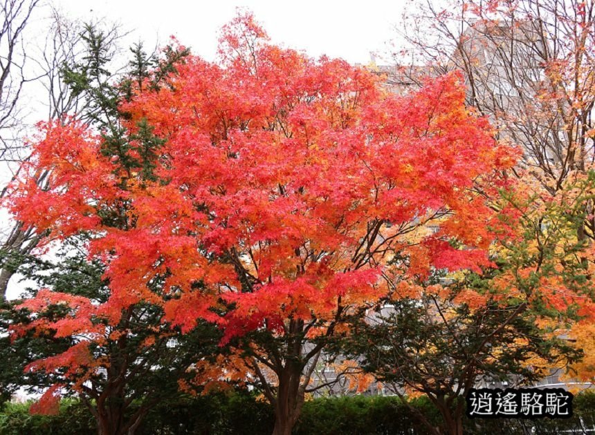
{"label": "lower trunk of the large central red maple, against the hedge", "polygon": [[293,426],[302,412],[304,392],[300,389],[302,367],[288,363],[279,377],[275,401],[275,428],[273,435],[291,435]]}

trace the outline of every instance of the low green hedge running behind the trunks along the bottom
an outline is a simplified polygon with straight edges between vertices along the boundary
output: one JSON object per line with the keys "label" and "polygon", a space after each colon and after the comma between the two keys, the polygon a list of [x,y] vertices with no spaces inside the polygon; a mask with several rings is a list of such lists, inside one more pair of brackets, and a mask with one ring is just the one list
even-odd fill
{"label": "low green hedge running behind the trunks along the bottom", "polygon": [[[425,398],[412,402],[430,421],[439,425],[437,409]],[[212,394],[181,398],[157,405],[137,434],[270,434],[273,409],[246,393]],[[466,434],[587,433],[595,428],[595,394],[574,398],[574,416],[564,420],[542,418],[465,421]],[[0,413],[0,435],[73,435],[95,432],[95,421],[82,403],[63,400],[57,416],[34,416],[28,404],[7,404]],[[304,405],[296,435],[427,434],[408,407],[396,397],[344,396],[318,398]]]}

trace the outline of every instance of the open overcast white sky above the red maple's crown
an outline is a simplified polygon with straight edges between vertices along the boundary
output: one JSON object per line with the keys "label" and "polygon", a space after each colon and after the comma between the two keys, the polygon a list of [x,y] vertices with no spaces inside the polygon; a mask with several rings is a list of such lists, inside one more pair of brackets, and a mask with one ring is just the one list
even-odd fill
{"label": "open overcast white sky above the red maple's crown", "polygon": [[370,51],[383,50],[394,37],[405,0],[55,0],[67,17],[106,17],[134,30],[136,40],[163,43],[175,35],[192,51],[213,60],[219,28],[235,16],[237,6],[248,8],[273,42],[304,49],[318,57],[342,57],[369,63]]}

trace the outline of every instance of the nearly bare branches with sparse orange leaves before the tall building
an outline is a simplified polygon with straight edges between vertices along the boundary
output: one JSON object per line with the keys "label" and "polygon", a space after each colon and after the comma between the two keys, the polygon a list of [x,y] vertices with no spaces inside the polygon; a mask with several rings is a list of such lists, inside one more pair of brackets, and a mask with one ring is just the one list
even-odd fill
{"label": "nearly bare branches with sparse orange leaves before the tall building", "polygon": [[594,8],[590,0],[416,1],[399,25],[410,47],[399,61],[432,75],[462,70],[467,103],[522,146],[524,166],[553,192],[594,158]]}

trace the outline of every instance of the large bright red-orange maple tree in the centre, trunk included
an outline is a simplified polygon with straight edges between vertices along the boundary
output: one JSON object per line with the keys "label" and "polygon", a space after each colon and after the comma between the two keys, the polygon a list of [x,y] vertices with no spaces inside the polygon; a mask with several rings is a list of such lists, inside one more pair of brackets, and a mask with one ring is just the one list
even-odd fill
{"label": "large bright red-orange maple tree in the centre, trunk included", "polygon": [[147,300],[185,331],[216,322],[289,434],[345,316],[432,267],[493,265],[506,229],[486,197],[516,153],[466,108],[457,74],[387,95],[345,61],[269,43],[250,14],[223,28],[219,55],[134,85],[129,146],[49,126],[32,169],[52,169],[51,189],[25,177],[12,211],[48,240],[92,235],[111,291],[95,315],[118,322]]}

